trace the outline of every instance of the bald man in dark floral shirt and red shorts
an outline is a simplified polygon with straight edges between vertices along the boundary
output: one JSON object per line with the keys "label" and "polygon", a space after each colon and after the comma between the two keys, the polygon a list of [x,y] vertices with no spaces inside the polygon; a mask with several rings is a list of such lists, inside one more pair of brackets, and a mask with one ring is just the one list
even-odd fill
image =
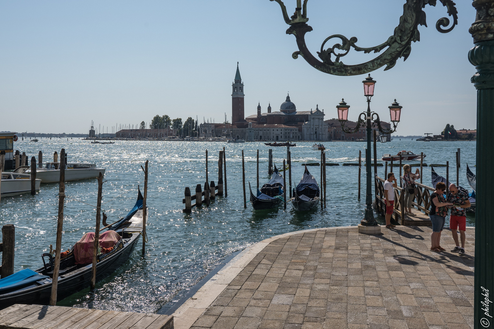
{"label": "bald man in dark floral shirt and red shorts", "polygon": [[[448,193],[448,202],[455,205],[451,208],[450,217],[450,229],[453,233],[453,240],[456,243],[456,247],[452,250],[453,253],[459,253],[459,255],[465,254],[465,230],[466,230],[466,214],[465,208],[470,207],[470,201],[468,200],[468,194],[459,190],[456,185],[450,185],[450,191]],[[456,230],[460,231],[461,248],[458,242],[458,235]]]}

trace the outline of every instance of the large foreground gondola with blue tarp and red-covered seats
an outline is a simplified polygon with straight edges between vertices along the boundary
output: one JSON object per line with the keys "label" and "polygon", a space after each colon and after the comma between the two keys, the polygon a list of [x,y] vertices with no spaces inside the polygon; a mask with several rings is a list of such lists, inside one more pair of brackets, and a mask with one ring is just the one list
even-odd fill
{"label": "large foreground gondola with blue tarp and red-covered seats", "polygon": [[[143,197],[139,190],[137,202],[132,210],[102,233],[102,236],[109,232],[107,235],[113,235],[114,237],[118,235],[120,238],[116,239],[118,242],[113,245],[110,252],[98,255],[96,281],[112,274],[129,258],[134,250],[139,236],[142,234],[142,200]],[[103,219],[106,219],[105,216]],[[103,223],[105,223],[105,220],[103,220]],[[92,234],[94,235],[94,232]],[[91,244],[94,243],[94,239],[92,241]],[[112,241],[107,242],[113,243]],[[102,246],[101,241],[100,246]],[[92,255],[92,248],[90,251]],[[72,247],[67,254],[62,253],[57,285],[57,300],[89,287],[92,277],[92,263],[87,262],[88,255],[85,255],[86,258],[81,258],[81,255],[82,249],[78,249],[78,244]],[[43,267],[35,271],[24,269],[0,280],[0,309],[13,304],[47,305],[49,303],[54,257],[45,253],[42,254],[41,258],[44,264]],[[45,262],[45,258],[48,259],[48,262]],[[78,260],[80,261],[81,259],[85,259],[86,262],[78,264]]]}

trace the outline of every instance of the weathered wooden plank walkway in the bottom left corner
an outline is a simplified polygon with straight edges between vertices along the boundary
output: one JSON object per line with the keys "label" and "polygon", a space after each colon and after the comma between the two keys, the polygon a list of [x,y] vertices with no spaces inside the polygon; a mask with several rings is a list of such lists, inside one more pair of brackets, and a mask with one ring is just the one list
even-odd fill
{"label": "weathered wooden plank walkway in the bottom left corner", "polygon": [[0,329],[173,329],[173,316],[15,304],[0,310]]}

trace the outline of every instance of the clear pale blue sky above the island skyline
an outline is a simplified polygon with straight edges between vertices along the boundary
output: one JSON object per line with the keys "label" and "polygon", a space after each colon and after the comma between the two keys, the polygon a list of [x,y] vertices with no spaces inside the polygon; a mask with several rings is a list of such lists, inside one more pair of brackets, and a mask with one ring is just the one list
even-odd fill
{"label": "clear pale blue sky above the island skyline", "polygon": [[[285,0],[288,13],[296,0]],[[371,110],[389,121],[388,106],[403,106],[396,135],[439,134],[447,123],[475,129],[475,68],[469,26],[471,1],[456,1],[458,25],[435,29],[446,8],[424,9],[427,25],[407,61],[371,73],[377,81]],[[311,0],[306,34],[317,57],[333,34],[371,47],[393,34],[405,0]],[[237,62],[245,84],[245,114],[258,102],[279,110],[289,92],[297,110],[325,110],[345,99],[348,118],[367,109],[362,80],[311,67],[286,34],[278,3],[269,0],[6,1],[0,0],[0,131],[87,133],[95,126],[150,122],[156,114],[231,121],[231,84]],[[336,40],[337,39],[333,39]],[[335,42],[332,42],[331,45]],[[351,50],[360,64],[376,54]],[[103,129],[103,128],[102,128]],[[106,128],[105,128],[106,132]]]}

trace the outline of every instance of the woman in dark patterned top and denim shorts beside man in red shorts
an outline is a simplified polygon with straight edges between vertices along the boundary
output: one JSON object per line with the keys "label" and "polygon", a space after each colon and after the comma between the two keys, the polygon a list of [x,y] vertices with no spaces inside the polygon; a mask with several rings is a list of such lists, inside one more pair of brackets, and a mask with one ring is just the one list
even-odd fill
{"label": "woman in dark patterned top and denim shorts beside man in red shorts", "polygon": [[441,232],[444,228],[446,215],[448,215],[448,206],[453,205],[453,203],[446,202],[446,198],[443,196],[444,191],[446,191],[446,184],[439,182],[436,185],[436,190],[431,194],[432,202],[429,212],[429,218],[432,221],[431,251],[436,253],[446,250],[439,245],[439,241],[441,240]]}

